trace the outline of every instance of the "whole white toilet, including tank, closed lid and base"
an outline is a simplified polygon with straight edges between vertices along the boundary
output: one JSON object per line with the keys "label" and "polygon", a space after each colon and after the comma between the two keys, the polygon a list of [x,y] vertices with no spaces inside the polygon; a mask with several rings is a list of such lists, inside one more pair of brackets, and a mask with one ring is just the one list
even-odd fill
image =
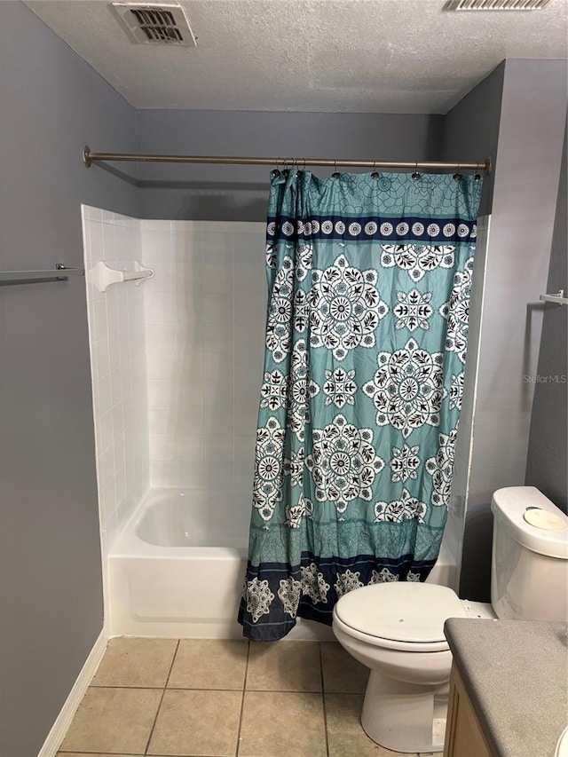
{"label": "whole white toilet, including tank, closed lid and base", "polygon": [[335,604],[337,641],[370,668],[361,725],[396,752],[444,748],[448,618],[568,620],[568,516],[533,486],[493,494],[491,604],[436,584],[354,589]]}

